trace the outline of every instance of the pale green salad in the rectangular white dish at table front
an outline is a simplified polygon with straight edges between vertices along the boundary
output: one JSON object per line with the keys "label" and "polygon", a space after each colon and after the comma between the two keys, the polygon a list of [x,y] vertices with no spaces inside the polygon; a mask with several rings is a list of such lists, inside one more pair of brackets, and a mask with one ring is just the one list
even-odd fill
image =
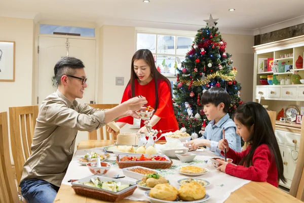
{"label": "pale green salad in the rectangular white dish at table front", "polygon": [[90,182],[85,182],[84,185],[91,186],[91,187],[97,187],[104,190],[109,190],[112,192],[119,192],[131,185],[122,185],[121,182],[115,182],[115,181],[100,181],[99,178],[96,180],[94,178],[91,178]]}

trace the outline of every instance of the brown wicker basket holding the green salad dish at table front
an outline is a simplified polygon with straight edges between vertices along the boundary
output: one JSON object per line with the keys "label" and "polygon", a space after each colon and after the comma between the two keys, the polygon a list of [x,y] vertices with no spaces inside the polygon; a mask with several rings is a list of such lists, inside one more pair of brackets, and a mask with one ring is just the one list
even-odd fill
{"label": "brown wicker basket holding the green salad dish at table front", "polygon": [[124,199],[127,196],[130,196],[133,194],[134,190],[137,187],[134,187],[124,193],[121,194],[110,194],[108,192],[104,192],[104,191],[100,191],[100,190],[94,190],[94,189],[89,189],[89,188],[85,188],[85,187],[78,187],[78,186],[72,186],[72,188],[74,189],[76,194],[80,194],[80,195],[84,195],[84,196],[88,196],[88,197],[92,197],[92,198],[96,198],[96,199],[101,199],[104,201],[111,201],[111,202],[115,202],[118,201],[120,199]]}

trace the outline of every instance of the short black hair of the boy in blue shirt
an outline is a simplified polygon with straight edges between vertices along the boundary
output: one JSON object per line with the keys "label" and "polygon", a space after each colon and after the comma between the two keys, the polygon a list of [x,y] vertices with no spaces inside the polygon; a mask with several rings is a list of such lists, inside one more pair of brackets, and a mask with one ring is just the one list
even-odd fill
{"label": "short black hair of the boy in blue shirt", "polygon": [[221,87],[213,87],[205,91],[201,98],[201,104],[214,104],[216,107],[220,104],[224,104],[223,111],[228,112],[231,105],[231,98],[229,93]]}

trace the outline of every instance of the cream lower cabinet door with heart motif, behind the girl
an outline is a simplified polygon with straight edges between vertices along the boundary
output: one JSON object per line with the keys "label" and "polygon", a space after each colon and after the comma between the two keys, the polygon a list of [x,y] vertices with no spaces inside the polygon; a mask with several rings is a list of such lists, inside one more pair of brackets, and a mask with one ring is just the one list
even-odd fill
{"label": "cream lower cabinet door with heart motif, behind the girl", "polygon": [[[296,148],[296,151],[298,152],[299,151],[299,148],[297,147]],[[293,153],[291,155],[291,153]],[[296,158],[295,154],[298,155],[298,153],[294,152],[294,147],[288,147],[286,146],[285,148],[285,160],[283,161],[284,162],[284,175],[285,175],[285,178],[289,179],[289,180],[292,180],[293,178],[293,175],[294,175],[294,171],[295,171],[295,166],[296,166],[296,163],[297,163],[297,160],[294,160],[293,158]],[[285,173],[286,171],[286,173]]]}

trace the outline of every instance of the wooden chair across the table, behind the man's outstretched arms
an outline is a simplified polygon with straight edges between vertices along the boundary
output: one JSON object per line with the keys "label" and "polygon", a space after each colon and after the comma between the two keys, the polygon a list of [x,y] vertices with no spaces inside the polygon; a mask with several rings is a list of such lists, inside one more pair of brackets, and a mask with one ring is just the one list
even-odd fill
{"label": "wooden chair across the table, behind the man's outstretched arms", "polygon": [[[119,104],[96,104],[96,105],[90,104],[89,106],[91,106],[93,108],[97,108],[97,109],[111,109],[118,105]],[[107,125],[99,128],[97,130],[93,130],[92,132],[88,132],[89,140],[98,140],[98,132],[99,132],[100,140],[114,140],[113,134],[107,132],[106,129],[107,129]]]}

